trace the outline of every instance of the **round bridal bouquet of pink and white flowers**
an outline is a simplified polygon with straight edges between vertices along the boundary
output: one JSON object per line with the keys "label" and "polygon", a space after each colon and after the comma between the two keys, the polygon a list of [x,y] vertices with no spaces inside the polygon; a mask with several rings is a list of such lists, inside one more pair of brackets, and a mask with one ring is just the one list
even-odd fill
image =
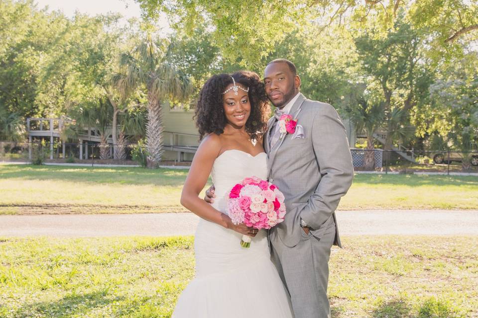
{"label": "round bridal bouquet of pink and white flowers", "polygon": [[[228,215],[236,225],[270,229],[284,221],[284,195],[270,182],[256,176],[245,178],[229,193]],[[249,247],[250,237],[243,235],[240,246]]]}

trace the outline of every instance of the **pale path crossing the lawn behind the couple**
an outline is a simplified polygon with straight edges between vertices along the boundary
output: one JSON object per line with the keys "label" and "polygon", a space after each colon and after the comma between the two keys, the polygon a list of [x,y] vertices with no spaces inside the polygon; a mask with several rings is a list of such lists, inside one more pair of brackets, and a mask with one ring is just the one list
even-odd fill
{"label": "pale path crossing the lawn behind the couple", "polygon": [[[341,235],[478,235],[478,211],[372,210],[337,212]],[[193,235],[192,213],[4,215],[0,237]]]}

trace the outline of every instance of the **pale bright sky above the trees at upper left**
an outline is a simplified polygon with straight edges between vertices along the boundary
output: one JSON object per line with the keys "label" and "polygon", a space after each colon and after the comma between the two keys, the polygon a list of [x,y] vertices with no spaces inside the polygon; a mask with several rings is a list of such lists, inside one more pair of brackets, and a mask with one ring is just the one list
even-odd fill
{"label": "pale bright sky above the trees at upper left", "polygon": [[[139,4],[133,0],[36,0],[35,2],[39,8],[48,6],[50,11],[60,10],[69,17],[72,17],[76,10],[90,15],[118,12],[126,19],[141,16]],[[161,27],[169,27],[164,15],[158,22]]]}

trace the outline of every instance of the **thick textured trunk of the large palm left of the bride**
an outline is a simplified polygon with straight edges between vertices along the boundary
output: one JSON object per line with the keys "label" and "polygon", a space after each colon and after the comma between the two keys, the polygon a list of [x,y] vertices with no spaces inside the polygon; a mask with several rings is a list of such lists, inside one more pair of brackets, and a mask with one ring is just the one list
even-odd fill
{"label": "thick textured trunk of the large palm left of the bride", "polygon": [[149,168],[156,168],[163,154],[161,103],[158,96],[155,96],[150,91],[148,92],[148,102],[148,122],[146,124],[147,166]]}

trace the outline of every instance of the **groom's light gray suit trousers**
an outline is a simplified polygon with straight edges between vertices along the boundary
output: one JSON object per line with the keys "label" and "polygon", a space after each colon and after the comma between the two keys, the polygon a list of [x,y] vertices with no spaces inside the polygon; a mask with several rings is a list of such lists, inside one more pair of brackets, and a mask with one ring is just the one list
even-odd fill
{"label": "groom's light gray suit trousers", "polygon": [[271,259],[287,286],[295,318],[331,317],[328,262],[336,228],[333,219],[327,223],[320,237],[301,230],[302,237],[294,247],[278,241],[271,244]]}

